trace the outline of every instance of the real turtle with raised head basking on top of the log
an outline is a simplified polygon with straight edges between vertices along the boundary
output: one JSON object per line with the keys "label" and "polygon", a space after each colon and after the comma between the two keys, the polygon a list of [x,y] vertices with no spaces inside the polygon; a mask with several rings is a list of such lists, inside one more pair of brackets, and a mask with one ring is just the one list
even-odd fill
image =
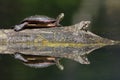
{"label": "real turtle with raised head basking on top of the log", "polygon": [[43,15],[35,15],[25,18],[19,25],[15,25],[14,30],[20,31],[24,28],[51,28],[61,26],[59,22],[63,19],[64,13],[58,15],[56,19]]}

